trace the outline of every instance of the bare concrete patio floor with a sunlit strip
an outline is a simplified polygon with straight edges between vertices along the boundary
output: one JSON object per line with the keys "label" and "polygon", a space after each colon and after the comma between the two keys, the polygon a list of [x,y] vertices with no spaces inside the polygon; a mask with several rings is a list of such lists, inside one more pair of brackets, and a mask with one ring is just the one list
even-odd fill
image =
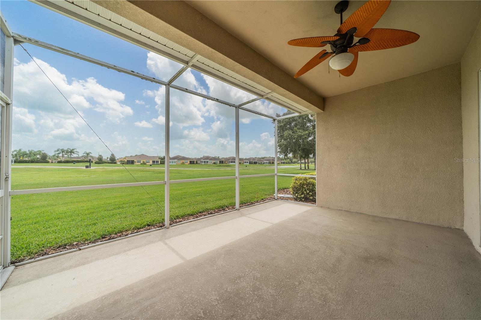
{"label": "bare concrete patio floor with a sunlit strip", "polygon": [[475,319],[462,230],[272,201],[15,268],[1,319]]}

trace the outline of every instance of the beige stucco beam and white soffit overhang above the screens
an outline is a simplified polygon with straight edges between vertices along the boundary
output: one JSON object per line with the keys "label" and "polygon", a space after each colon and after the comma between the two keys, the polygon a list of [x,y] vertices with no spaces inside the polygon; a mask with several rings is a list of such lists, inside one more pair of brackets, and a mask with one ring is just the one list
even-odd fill
{"label": "beige stucco beam and white soffit overhang above the screens", "polygon": [[324,109],[322,97],[183,1],[34,2],[296,113]]}

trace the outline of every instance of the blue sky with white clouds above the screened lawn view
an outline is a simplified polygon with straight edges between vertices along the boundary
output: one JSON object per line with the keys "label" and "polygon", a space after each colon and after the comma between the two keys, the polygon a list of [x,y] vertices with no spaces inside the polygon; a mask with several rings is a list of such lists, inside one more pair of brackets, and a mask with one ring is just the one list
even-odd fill
{"label": "blue sky with white clouds above the screened lawn view", "polygon": [[[167,80],[181,67],[28,1],[2,0],[1,11],[13,32],[142,74]],[[164,154],[164,86],[47,49],[24,47],[117,157]],[[194,70],[182,74],[175,84],[233,103],[253,98]],[[235,154],[234,108],[175,89],[170,95],[171,155]],[[77,148],[80,153],[110,154],[20,46],[15,47],[13,105],[13,149],[43,149],[51,154],[56,148]],[[264,100],[246,107],[271,115],[286,111]],[[270,119],[241,111],[241,157],[272,156],[273,133]]]}

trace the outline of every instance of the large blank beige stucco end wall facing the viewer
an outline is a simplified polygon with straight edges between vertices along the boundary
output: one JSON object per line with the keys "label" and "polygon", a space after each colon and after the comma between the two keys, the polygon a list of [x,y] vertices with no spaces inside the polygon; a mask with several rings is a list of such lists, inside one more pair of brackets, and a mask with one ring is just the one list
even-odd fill
{"label": "large blank beige stucco end wall facing the viewer", "polygon": [[317,205],[462,228],[460,69],[326,98],[316,115]]}

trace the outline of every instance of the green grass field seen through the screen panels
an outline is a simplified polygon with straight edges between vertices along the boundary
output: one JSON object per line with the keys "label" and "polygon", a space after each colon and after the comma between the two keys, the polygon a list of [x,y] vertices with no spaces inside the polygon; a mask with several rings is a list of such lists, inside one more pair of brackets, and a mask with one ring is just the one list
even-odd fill
{"label": "green grass field seen through the screen panels", "polygon": [[[71,164],[16,164],[12,168],[12,189],[135,182],[119,165],[102,164],[95,169],[85,169],[83,165],[68,168],[67,165]],[[137,181],[164,180],[162,167],[127,166]],[[172,167],[172,180],[235,175],[234,165]],[[274,172],[273,166],[241,166],[241,175],[271,172]],[[306,173],[314,170],[299,170],[298,166],[291,166],[279,168],[278,172]],[[279,189],[288,188],[290,184],[291,177],[278,177]],[[165,186],[144,188],[135,186],[12,196],[12,259],[19,261],[47,247],[91,241],[164,222]],[[235,179],[172,184],[170,189],[172,220],[235,204]],[[241,179],[241,203],[261,200],[273,193],[273,176]]]}

